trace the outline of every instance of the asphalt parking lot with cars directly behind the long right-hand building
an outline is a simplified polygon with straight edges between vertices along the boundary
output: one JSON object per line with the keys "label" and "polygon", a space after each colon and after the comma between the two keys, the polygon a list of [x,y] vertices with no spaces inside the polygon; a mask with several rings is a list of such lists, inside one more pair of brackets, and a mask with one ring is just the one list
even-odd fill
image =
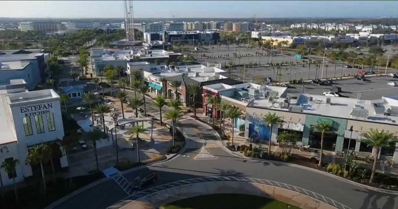
{"label": "asphalt parking lot with cars directly behind the long right-hand building", "polygon": [[[338,80],[331,86],[318,86],[317,84],[304,84],[304,94],[318,94],[330,91],[333,86],[341,88],[341,95],[361,100],[377,100],[382,96],[398,94],[398,86],[388,86],[387,83],[394,81],[398,83],[398,78],[388,78],[382,76],[368,77],[368,81],[356,79]],[[302,84],[291,84],[288,92],[297,95],[302,92]]]}

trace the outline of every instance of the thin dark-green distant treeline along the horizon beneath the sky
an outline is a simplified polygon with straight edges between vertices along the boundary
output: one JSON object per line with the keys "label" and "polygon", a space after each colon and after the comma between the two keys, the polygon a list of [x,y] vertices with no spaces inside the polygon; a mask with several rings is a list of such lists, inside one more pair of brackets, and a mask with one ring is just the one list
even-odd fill
{"label": "thin dark-green distant treeline along the horizon beneath the sky", "polygon": [[[172,18],[134,18],[136,23],[150,23],[156,21],[170,21]],[[398,25],[398,18],[257,18],[259,23],[291,25],[293,23],[361,23]],[[0,18],[0,23],[19,23],[22,21],[59,21],[59,22],[101,22],[113,23],[122,22],[123,18]],[[194,21],[250,21],[253,18],[175,18],[175,22],[194,22]]]}

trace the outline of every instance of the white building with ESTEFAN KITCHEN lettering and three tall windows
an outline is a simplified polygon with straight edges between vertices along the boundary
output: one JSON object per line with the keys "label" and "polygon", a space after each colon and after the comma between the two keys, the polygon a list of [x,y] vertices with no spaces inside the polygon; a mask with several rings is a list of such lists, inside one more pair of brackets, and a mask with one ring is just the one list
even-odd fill
{"label": "white building with ESTEFAN KITCHEN lettering and three tall windows", "polygon": [[[25,82],[11,80],[10,85],[0,86],[0,161],[17,159],[16,182],[34,175],[27,162],[29,148],[41,143],[59,142],[64,137],[59,96],[52,89],[29,92]],[[54,164],[60,168],[68,166],[65,150],[60,147],[60,157]],[[40,170],[40,169],[38,169]],[[13,179],[4,169],[0,176],[5,186]]]}

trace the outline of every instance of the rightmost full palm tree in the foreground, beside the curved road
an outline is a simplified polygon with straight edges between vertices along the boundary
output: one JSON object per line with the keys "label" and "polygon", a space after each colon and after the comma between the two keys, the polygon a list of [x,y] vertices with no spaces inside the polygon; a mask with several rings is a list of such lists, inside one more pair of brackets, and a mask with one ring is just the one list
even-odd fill
{"label": "rightmost full palm tree in the foreground, beside the curved road", "polygon": [[375,149],[373,155],[375,161],[373,161],[372,174],[369,180],[369,183],[372,184],[373,178],[375,178],[376,164],[380,148],[390,146],[394,135],[393,133],[390,133],[390,131],[378,131],[377,129],[370,129],[370,131],[363,133],[362,136],[365,137],[365,139],[362,139],[362,141],[365,142],[368,146],[373,146],[373,149]]}

